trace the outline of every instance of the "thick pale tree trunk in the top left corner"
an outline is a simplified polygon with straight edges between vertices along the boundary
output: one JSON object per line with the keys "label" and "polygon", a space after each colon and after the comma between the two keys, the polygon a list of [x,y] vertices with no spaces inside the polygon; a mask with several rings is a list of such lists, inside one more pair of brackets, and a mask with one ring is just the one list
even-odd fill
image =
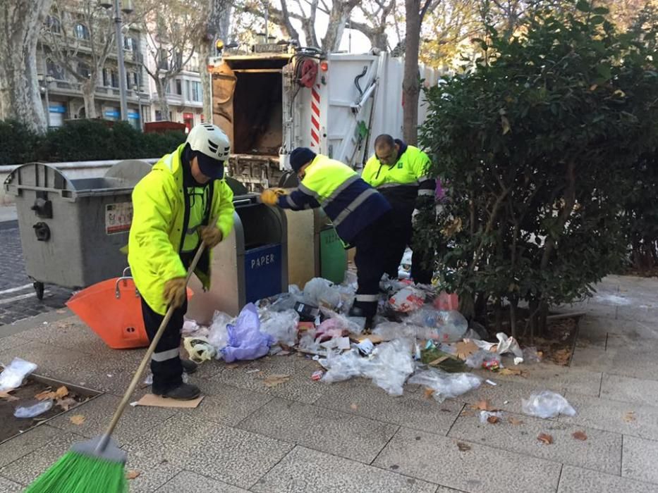
{"label": "thick pale tree trunk in the top left corner", "polygon": [[37,80],[37,41],[52,0],[5,0],[0,6],[0,119],[37,132],[46,116]]}

